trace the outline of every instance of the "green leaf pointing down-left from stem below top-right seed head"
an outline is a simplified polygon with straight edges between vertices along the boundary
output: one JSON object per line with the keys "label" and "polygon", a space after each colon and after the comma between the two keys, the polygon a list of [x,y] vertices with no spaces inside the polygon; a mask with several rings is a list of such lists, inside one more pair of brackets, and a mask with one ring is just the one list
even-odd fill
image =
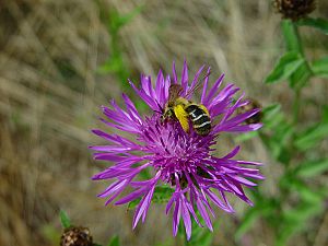
{"label": "green leaf pointing down-left from stem below top-right seed head", "polygon": [[295,51],[284,54],[266,79],[266,83],[276,83],[289,79],[302,65],[304,58]]}

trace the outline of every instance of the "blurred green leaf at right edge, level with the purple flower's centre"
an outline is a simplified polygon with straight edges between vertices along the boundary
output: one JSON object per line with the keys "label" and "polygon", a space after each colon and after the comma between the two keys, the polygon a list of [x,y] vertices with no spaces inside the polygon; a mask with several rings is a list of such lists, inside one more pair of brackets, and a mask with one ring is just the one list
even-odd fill
{"label": "blurred green leaf at right edge, level with the purple flower's centre", "polygon": [[315,147],[319,141],[327,138],[328,124],[316,124],[296,137],[295,147],[302,151]]}

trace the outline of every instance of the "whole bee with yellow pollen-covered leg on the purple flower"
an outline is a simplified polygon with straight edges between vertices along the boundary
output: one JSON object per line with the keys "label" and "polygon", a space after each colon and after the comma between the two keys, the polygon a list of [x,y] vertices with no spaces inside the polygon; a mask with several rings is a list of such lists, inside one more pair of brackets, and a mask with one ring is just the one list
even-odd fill
{"label": "whole bee with yellow pollen-covered leg on the purple flower", "polygon": [[207,136],[211,131],[209,110],[201,104],[192,103],[180,96],[183,86],[172,84],[168,89],[168,101],[162,115],[162,121],[176,119],[184,131],[189,132],[189,122],[199,136]]}

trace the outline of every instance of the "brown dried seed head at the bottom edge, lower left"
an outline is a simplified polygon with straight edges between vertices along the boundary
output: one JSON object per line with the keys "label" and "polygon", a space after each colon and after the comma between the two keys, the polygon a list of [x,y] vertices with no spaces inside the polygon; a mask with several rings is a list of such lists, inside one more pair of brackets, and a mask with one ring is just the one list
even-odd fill
{"label": "brown dried seed head at the bottom edge, lower left", "polygon": [[69,227],[63,231],[60,246],[92,246],[92,236],[86,227]]}

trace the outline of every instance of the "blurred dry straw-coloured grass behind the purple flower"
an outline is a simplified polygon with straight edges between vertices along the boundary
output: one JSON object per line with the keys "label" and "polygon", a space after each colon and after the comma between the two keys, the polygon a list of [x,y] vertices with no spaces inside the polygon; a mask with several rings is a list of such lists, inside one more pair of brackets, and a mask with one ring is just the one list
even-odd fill
{"label": "blurred dry straw-coloured grass behind the purple flower", "polygon": [[[315,15],[328,17],[327,1],[318,1]],[[265,0],[2,0],[0,245],[58,245],[59,208],[89,226],[98,243],[118,234],[122,245],[179,245],[164,207],[153,206],[145,225],[131,231],[133,211],[105,208],[95,198],[105,184],[90,179],[101,165],[87,145],[99,142],[90,133],[98,125],[98,106],[119,102],[121,92],[131,95],[128,78],[138,81],[141,72],[155,75],[160,68],[171,73],[172,61],[180,69],[186,58],[191,74],[206,62],[212,82],[224,72],[225,82],[262,105],[279,102],[290,112],[288,85],[262,83],[283,47],[279,24]],[[308,57],[327,54],[327,36],[307,28],[302,35]],[[305,91],[308,102],[301,114],[308,125],[319,118],[318,105],[327,103],[327,81],[315,80]],[[219,145],[234,144],[224,141]],[[259,141],[243,147],[241,157],[266,163],[261,189],[274,194],[279,167]],[[319,148],[327,153],[328,141]],[[235,239],[247,207],[233,203],[236,214],[218,211],[214,245],[271,245],[272,234],[261,222]],[[290,245],[325,245],[328,212],[309,229]]]}

